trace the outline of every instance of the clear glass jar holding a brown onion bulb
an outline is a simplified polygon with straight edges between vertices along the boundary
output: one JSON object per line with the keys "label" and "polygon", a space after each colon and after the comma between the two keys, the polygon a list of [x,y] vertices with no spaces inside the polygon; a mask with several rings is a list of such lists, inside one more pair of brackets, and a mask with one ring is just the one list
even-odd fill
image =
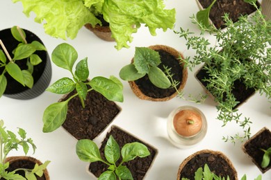
{"label": "clear glass jar holding a brown onion bulb", "polygon": [[196,107],[178,107],[167,118],[167,134],[176,147],[192,147],[202,141],[206,132],[206,117]]}

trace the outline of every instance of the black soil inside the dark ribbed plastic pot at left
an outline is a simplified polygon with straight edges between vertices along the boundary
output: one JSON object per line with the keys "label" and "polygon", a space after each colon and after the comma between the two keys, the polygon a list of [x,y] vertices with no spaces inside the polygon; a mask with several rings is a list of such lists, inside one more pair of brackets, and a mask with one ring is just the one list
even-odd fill
{"label": "black soil inside the dark ribbed plastic pot at left", "polygon": [[[36,35],[34,35],[33,33],[31,33],[28,30],[24,29],[24,32],[26,33],[26,41],[28,43],[31,43],[33,41],[38,41],[40,43],[42,43],[42,41],[40,40],[40,38]],[[10,29],[5,29],[5,30],[1,30],[0,31],[0,39],[2,40],[3,44],[5,44],[8,53],[10,54],[10,57],[13,58],[13,50],[17,47],[17,45],[19,44],[19,42],[14,39],[14,37],[12,36]],[[43,44],[43,43],[42,43]],[[0,46],[0,49],[3,50]],[[46,65],[46,60],[47,60],[47,51],[35,51],[35,54],[40,56],[40,58],[42,59],[42,62],[36,66],[34,66],[34,70],[32,73],[32,76],[34,78],[34,84],[35,82],[37,82],[40,79],[40,76],[42,75],[44,69],[45,69],[45,65]],[[7,58],[8,61],[8,58]],[[27,60],[17,60],[16,64],[22,69],[22,70],[26,70],[28,69],[27,65],[26,65]],[[3,68],[0,67],[0,74],[3,72]],[[22,91],[25,91],[26,89],[29,89],[28,87],[24,87],[22,84],[20,84],[19,82],[17,82],[15,79],[13,79],[8,73],[5,73],[6,79],[7,79],[7,87],[6,87],[6,91],[4,92],[5,94],[13,94],[13,93],[19,93]]]}

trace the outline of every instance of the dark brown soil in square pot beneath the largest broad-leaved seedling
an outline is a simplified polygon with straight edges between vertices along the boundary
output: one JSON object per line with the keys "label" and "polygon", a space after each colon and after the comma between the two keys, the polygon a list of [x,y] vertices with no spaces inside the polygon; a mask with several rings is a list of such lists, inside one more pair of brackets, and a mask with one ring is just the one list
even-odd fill
{"label": "dark brown soil in square pot beneath the largest broad-leaved seedling", "polygon": [[[67,100],[75,93],[69,93]],[[78,96],[68,103],[67,118],[63,127],[76,139],[94,139],[98,136],[120,113],[120,108],[115,102],[107,100],[97,91],[90,91],[82,107]]]}

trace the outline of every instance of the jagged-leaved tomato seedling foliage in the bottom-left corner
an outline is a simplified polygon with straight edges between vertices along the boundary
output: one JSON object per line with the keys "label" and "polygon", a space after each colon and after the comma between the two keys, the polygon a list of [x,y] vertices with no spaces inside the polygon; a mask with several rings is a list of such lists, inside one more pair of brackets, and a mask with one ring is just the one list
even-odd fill
{"label": "jagged-leaved tomato seedling foliage in the bottom-left corner", "polygon": [[[6,127],[3,127],[3,120],[0,120],[0,179],[16,179],[16,180],[36,180],[35,175],[42,177],[43,170],[47,168],[47,165],[50,161],[45,161],[42,165],[35,164],[33,170],[26,168],[18,168],[12,172],[8,172],[7,169],[10,165],[9,162],[6,162],[6,157],[12,150],[18,150],[18,147],[21,146],[24,150],[24,154],[28,153],[29,145],[33,148],[33,153],[35,153],[36,146],[33,143],[31,138],[26,138],[26,132],[24,129],[18,128],[19,138],[16,134],[6,130]],[[24,171],[25,177],[17,174],[17,171]]]}

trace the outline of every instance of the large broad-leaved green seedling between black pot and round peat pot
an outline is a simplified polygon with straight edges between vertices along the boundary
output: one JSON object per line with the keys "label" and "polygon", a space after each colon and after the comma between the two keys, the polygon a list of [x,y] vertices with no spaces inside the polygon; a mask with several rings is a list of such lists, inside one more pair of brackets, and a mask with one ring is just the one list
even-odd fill
{"label": "large broad-leaved green seedling between black pot and round peat pot", "polygon": [[[113,75],[110,78],[101,76],[88,79],[88,58],[76,64],[75,71],[73,72],[74,63],[76,62],[78,54],[74,47],[67,43],[59,44],[54,49],[51,60],[63,69],[67,69],[72,73],[72,78],[61,78],[51,84],[47,91],[58,94],[66,94],[74,91],[76,93],[63,102],[55,102],[49,105],[43,114],[43,132],[53,132],[58,129],[65,122],[67,116],[67,105],[69,100],[75,96],[79,96],[82,107],[85,107],[85,98],[89,91],[95,90],[101,93],[108,100],[123,102],[122,82],[115,78]],[[88,85],[90,88],[88,88]]]}

